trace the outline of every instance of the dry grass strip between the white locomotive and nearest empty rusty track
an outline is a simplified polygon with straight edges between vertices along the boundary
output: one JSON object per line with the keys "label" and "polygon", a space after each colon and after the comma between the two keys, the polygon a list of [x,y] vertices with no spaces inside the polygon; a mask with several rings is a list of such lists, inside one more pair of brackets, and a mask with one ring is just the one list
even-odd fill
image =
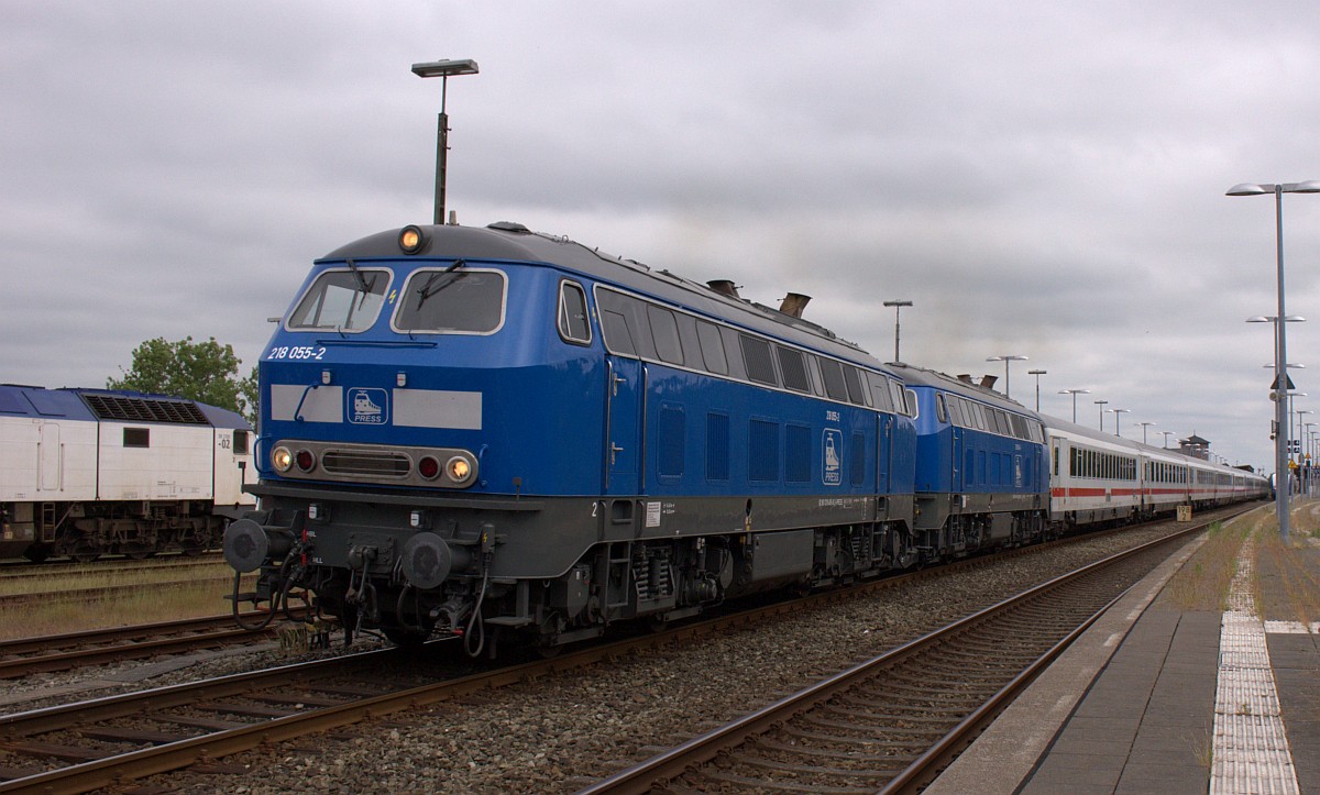
{"label": "dry grass strip between the white locomotive and nearest empty rusty track", "polygon": [[[213,567],[195,570],[198,580],[213,577],[232,577],[223,560]],[[115,588],[114,596],[86,602],[29,604],[0,607],[0,639],[26,638],[32,635],[53,635],[136,623],[172,621],[176,618],[201,618],[227,613],[231,609],[224,598],[230,586],[216,586],[213,580],[189,585],[177,585],[178,573],[162,568],[158,573],[133,570],[116,574],[112,567],[87,567],[86,572],[66,572],[51,577],[38,577],[24,581],[22,593],[58,593],[86,588]],[[158,585],[170,582],[161,588]],[[0,589],[4,580],[0,578]],[[15,593],[0,590],[0,593]]]}

